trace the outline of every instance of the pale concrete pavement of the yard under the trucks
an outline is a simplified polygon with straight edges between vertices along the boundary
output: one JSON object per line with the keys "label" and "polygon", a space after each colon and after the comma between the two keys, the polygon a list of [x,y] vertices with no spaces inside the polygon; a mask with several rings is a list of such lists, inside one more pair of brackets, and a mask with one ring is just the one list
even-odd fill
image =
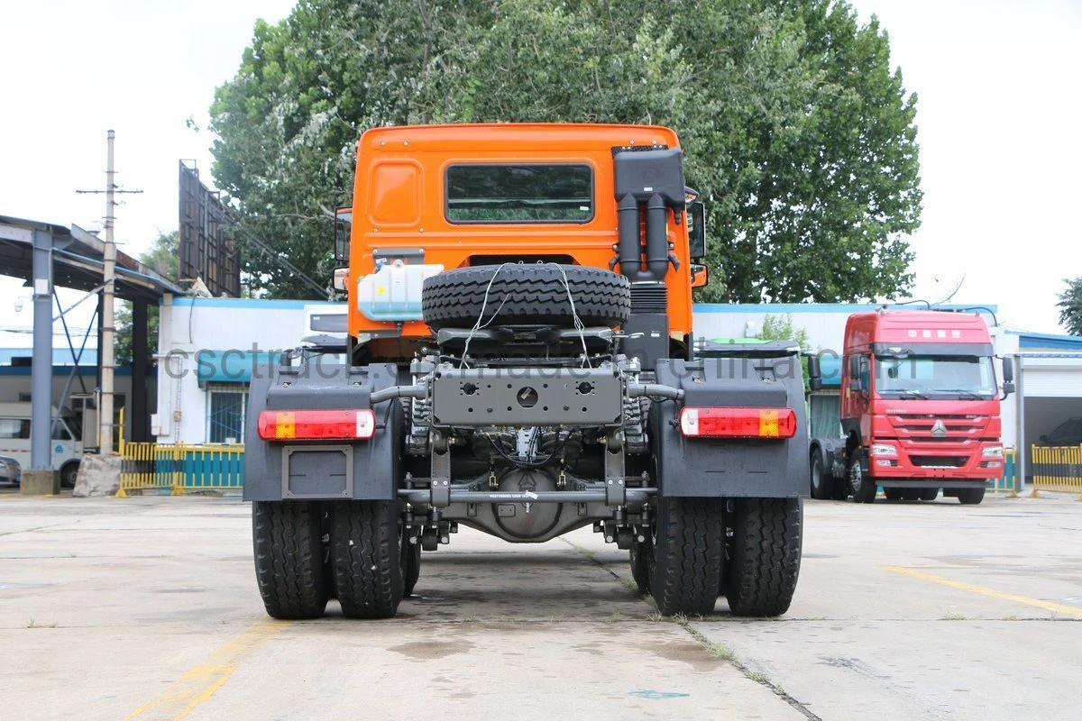
{"label": "pale concrete pavement of the yard under the trucks", "polygon": [[0,495],[5,718],[1079,718],[1082,504],[809,502],[790,613],[661,619],[589,530],[463,529],[399,616],[278,623],[250,511]]}

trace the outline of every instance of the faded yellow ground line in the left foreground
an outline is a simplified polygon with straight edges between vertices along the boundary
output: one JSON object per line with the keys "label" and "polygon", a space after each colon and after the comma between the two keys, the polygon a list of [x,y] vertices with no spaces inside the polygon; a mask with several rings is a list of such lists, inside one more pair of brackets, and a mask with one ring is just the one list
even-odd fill
{"label": "faded yellow ground line in the left foreground", "polygon": [[183,719],[210,699],[237,670],[240,659],[280,633],[290,622],[259,620],[211,653],[206,664],[189,668],[155,698],[131,712],[133,719]]}

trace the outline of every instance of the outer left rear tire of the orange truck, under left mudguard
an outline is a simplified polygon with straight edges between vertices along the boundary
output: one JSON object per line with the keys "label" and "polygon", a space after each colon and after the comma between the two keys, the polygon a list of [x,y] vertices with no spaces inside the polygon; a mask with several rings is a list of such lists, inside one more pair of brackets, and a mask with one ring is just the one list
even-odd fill
{"label": "outer left rear tire of the orange truck, under left mudguard", "polygon": [[299,620],[319,618],[329,583],[324,564],[320,504],[256,500],[252,504],[255,582],[267,615]]}

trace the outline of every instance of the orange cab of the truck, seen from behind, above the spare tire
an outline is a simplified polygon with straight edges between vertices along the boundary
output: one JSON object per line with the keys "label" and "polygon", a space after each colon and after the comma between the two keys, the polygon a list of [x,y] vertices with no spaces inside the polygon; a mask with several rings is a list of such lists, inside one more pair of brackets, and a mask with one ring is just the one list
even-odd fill
{"label": "orange cab of the truck, seen from behind, above the spare tire", "polygon": [[[339,211],[340,224],[348,225],[339,230],[338,254],[348,266],[337,283],[349,293],[357,359],[408,358],[432,335],[421,312],[425,278],[509,262],[619,270],[632,280],[634,310],[664,315],[671,347],[687,357],[691,289],[707,283],[702,203],[685,198],[690,189],[682,176],[669,184],[679,197],[659,195],[654,208],[639,209],[642,201],[630,196],[621,205],[612,195],[613,156],[651,150],[678,157],[676,134],[652,125],[575,123],[367,131],[357,149],[353,206]],[[678,163],[669,166],[678,173]],[[698,242],[689,242],[689,230]]]}

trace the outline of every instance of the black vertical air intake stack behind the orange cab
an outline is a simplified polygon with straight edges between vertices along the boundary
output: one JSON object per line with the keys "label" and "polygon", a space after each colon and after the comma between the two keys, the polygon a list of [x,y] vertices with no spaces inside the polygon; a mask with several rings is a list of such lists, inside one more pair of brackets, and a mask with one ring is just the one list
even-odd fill
{"label": "black vertical air intake stack behind the orange cab", "polygon": [[[619,221],[617,263],[631,281],[631,319],[623,352],[652,371],[669,357],[669,296],[665,275],[676,259],[669,252],[669,211],[684,212],[684,165],[678,148],[613,148]],[[646,221],[643,222],[645,211]],[[643,230],[645,227],[645,243]],[[643,246],[645,244],[645,264]]]}

